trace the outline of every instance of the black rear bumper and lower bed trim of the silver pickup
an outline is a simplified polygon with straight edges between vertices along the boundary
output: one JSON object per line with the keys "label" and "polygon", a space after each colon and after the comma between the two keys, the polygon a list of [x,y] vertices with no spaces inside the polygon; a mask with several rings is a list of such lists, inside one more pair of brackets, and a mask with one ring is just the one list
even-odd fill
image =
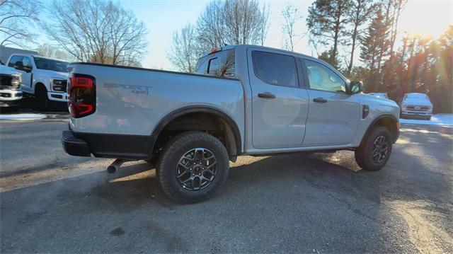
{"label": "black rear bumper and lower bed trim of the silver pickup", "polygon": [[100,158],[150,159],[156,137],[64,131],[64,151],[74,156]]}

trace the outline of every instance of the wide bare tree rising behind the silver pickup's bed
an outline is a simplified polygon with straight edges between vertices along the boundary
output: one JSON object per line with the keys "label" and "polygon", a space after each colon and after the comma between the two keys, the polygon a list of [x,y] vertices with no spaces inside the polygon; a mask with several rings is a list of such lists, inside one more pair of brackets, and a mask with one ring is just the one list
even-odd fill
{"label": "wide bare tree rising behind the silver pickup's bed", "polygon": [[106,0],[55,0],[45,33],[86,62],[138,66],[147,28],[130,11]]}

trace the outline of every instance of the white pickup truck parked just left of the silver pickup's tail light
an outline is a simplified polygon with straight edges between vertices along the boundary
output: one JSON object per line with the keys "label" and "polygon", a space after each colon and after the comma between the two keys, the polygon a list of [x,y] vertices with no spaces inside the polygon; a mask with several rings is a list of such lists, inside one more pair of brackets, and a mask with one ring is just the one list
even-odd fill
{"label": "white pickup truck parked just left of the silver pickup's tail light", "polygon": [[50,102],[67,103],[67,64],[59,59],[35,54],[11,54],[8,67],[22,74],[23,93],[35,96],[40,108]]}

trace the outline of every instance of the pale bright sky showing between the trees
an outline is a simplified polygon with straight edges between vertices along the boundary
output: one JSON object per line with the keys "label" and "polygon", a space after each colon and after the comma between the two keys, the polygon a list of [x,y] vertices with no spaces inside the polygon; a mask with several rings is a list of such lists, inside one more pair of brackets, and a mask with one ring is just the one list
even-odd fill
{"label": "pale bright sky showing between the trees", "polygon": [[[166,58],[170,50],[173,33],[187,23],[195,24],[197,17],[204,10],[210,0],[113,0],[126,10],[135,13],[139,21],[147,25],[149,31],[147,41],[147,55],[144,57],[142,66],[153,69],[173,69]],[[296,30],[300,31],[294,51],[303,54],[314,55],[306,36],[306,16],[308,8],[313,1],[265,1],[258,0],[270,8],[270,28],[265,41],[265,46],[280,48],[283,45],[282,23],[280,15],[287,3],[299,8],[303,18],[297,23]],[[49,4],[45,0],[44,4]],[[42,17],[41,17],[42,18]],[[447,29],[447,25],[453,25],[453,1],[452,0],[409,0],[406,4],[398,25],[398,39],[401,39],[403,32],[412,34],[438,36]],[[39,31],[37,31],[40,34]],[[40,35],[40,43],[50,42],[45,35]],[[397,40],[397,45],[398,46]],[[356,53],[358,57],[358,54]]]}

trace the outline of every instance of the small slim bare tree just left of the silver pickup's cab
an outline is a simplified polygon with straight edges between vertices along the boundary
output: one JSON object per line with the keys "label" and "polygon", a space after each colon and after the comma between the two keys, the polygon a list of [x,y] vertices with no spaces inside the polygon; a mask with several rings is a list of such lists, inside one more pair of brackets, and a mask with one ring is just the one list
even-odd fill
{"label": "small slim bare tree just left of the silver pickup's cab", "polygon": [[167,58],[178,71],[195,72],[195,65],[201,53],[193,25],[185,25],[180,33],[173,33],[173,43]]}

